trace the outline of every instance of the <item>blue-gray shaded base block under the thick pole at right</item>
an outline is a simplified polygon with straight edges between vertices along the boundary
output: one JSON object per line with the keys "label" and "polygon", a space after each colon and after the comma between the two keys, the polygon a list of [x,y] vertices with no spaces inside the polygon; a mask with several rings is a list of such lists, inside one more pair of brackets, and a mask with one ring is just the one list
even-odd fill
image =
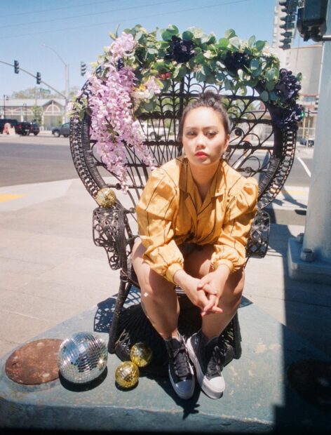
{"label": "blue-gray shaded base block under the thick pole at right", "polygon": [[297,281],[331,284],[331,264],[320,260],[302,261],[302,243],[295,237],[288,239],[288,274]]}

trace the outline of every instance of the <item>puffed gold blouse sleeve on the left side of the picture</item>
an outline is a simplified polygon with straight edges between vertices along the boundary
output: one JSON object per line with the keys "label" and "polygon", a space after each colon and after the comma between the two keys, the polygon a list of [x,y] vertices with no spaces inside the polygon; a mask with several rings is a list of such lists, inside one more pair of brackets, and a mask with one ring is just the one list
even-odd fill
{"label": "puffed gold blouse sleeve on the left side of the picture", "polygon": [[180,249],[173,240],[178,188],[162,168],[154,170],[137,203],[138,234],[146,248],[144,261],[154,272],[173,281],[184,267]]}

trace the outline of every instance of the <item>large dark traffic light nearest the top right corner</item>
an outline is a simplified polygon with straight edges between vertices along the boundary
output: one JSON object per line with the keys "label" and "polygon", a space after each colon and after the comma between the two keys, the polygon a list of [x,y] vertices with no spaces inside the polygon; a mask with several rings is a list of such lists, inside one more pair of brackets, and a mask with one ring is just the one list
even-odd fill
{"label": "large dark traffic light nearest the top right corner", "polygon": [[297,12],[297,29],[304,41],[322,41],[326,32],[328,0],[306,0]]}

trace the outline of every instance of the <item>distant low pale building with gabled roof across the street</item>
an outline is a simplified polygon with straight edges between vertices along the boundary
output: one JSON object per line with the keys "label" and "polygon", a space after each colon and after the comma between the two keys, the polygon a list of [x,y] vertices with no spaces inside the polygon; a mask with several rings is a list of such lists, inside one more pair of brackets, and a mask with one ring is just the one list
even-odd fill
{"label": "distant low pale building with gabled roof across the street", "polygon": [[64,98],[10,98],[3,103],[1,118],[32,121],[36,118],[36,107],[39,107],[43,129],[50,130],[66,121]]}

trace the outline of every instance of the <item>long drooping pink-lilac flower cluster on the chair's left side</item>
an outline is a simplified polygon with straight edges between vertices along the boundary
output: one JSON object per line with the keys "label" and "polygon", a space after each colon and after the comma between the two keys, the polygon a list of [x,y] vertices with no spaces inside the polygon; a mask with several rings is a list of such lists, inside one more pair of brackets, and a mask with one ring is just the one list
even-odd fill
{"label": "long drooping pink-lilac flower cluster on the chair's left side", "polygon": [[131,93],[135,74],[129,67],[119,70],[111,63],[104,65],[107,76],[90,77],[91,139],[97,140],[97,152],[107,169],[120,180],[124,192],[128,189],[125,143],[134,147],[137,155],[148,166],[153,166],[145,136],[139,121],[134,119]]}

